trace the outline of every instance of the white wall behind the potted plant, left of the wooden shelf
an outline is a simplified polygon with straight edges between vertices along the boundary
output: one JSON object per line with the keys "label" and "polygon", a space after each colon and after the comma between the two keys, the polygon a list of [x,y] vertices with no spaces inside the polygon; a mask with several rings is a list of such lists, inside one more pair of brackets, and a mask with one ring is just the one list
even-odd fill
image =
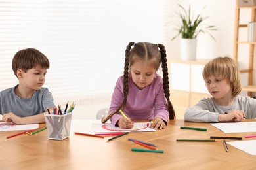
{"label": "white wall behind the potted plant, left of the wooden shelf", "polygon": [[[179,11],[177,4],[186,9],[191,5],[191,12],[198,14],[202,11],[202,16],[209,16],[205,24],[215,25],[217,31],[211,31],[216,41],[211,39],[207,34],[198,35],[197,59],[211,59],[217,56],[233,55],[234,44],[234,16],[236,1],[234,0],[169,0],[169,20],[175,21],[175,11]],[[171,41],[176,35],[173,30],[174,24],[169,24],[168,37],[170,38],[167,45],[169,59],[179,58],[179,39]]]}

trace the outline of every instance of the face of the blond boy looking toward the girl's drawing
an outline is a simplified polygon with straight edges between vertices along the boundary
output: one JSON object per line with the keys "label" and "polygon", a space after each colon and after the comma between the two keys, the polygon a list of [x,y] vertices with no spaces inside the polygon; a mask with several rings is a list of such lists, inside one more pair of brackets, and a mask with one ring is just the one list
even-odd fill
{"label": "face of the blond boy looking toward the girl's drawing", "polygon": [[205,83],[207,90],[215,100],[232,98],[232,89],[226,78],[212,75],[207,78]]}

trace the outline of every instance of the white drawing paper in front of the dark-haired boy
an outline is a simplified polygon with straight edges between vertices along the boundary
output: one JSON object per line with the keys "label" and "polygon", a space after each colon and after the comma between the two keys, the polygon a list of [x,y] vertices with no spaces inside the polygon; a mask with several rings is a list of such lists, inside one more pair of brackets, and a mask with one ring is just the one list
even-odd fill
{"label": "white drawing paper in front of the dark-haired boy", "polygon": [[0,131],[22,131],[36,129],[39,124],[7,124],[5,122],[0,122]]}

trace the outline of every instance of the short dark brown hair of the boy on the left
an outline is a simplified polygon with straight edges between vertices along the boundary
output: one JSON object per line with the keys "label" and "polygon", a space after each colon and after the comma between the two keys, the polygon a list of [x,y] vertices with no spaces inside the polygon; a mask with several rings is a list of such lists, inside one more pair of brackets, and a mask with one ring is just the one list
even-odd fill
{"label": "short dark brown hair of the boy on the left", "polygon": [[50,67],[47,56],[35,48],[26,48],[24,50],[20,50],[12,59],[12,70],[14,75],[16,75],[18,69],[22,69],[22,71],[26,73],[29,69],[32,69],[36,65],[47,69]]}

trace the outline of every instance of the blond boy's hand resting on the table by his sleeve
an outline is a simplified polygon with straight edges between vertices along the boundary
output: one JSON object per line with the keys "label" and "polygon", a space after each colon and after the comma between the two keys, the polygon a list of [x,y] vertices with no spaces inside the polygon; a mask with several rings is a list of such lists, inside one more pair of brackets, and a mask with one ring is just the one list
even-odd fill
{"label": "blond boy's hand resting on the table by his sleeve", "polygon": [[219,122],[240,122],[244,118],[242,110],[232,110],[228,114],[219,114]]}

